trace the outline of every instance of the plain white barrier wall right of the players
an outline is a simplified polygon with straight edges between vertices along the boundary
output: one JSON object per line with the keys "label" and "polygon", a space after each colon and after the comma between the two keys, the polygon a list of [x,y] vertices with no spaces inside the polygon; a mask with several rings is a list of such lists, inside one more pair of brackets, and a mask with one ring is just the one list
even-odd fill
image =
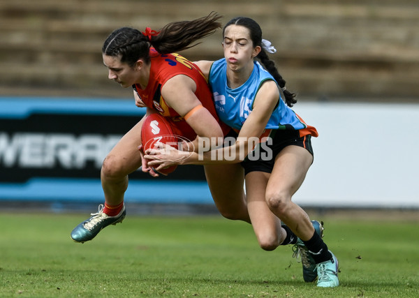
{"label": "plain white barrier wall right of the players", "polygon": [[331,207],[419,207],[419,105],[297,103],[316,126],[314,164],[295,202]]}

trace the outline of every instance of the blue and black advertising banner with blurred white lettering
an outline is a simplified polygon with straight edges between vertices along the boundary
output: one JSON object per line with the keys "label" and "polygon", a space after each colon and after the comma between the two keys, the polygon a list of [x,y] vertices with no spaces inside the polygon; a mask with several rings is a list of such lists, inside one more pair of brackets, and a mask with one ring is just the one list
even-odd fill
{"label": "blue and black advertising banner with blurred white lettering", "polygon": [[[103,202],[103,158],[144,114],[129,99],[0,97],[0,200]],[[129,181],[126,202],[212,202],[201,166]]]}

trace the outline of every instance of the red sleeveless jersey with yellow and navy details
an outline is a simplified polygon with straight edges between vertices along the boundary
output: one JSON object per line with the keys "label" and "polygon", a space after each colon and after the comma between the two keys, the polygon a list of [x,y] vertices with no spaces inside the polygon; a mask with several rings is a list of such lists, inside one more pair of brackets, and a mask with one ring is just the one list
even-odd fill
{"label": "red sleeveless jersey with yellow and navy details", "polygon": [[201,73],[198,66],[191,61],[185,59],[179,54],[159,54],[154,48],[150,48],[151,68],[149,75],[149,82],[145,89],[141,89],[140,85],[134,84],[133,89],[147,107],[150,107],[159,112],[163,117],[168,117],[172,124],[174,124],[182,132],[184,137],[193,140],[196,133],[191,126],[186,123],[172,107],[166,104],[166,100],[161,96],[161,87],[175,75],[187,75],[196,84],[195,95],[200,100],[203,107],[205,107],[212,116],[219,121],[216,114],[214,102],[212,100],[212,93],[208,87],[207,80],[203,73]]}

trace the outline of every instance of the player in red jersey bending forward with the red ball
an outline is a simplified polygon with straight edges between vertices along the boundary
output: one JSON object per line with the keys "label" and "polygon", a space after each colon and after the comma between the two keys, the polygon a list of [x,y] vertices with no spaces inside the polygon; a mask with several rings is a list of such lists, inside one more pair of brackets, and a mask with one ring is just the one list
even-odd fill
{"label": "player in red jersey bending forward with the red ball", "polygon": [[[215,142],[222,140],[223,131],[205,77],[190,61],[171,54],[212,34],[221,27],[217,22],[219,18],[211,13],[192,21],[172,22],[159,32],[149,28],[141,32],[128,27],[113,31],[102,47],[108,78],[124,88],[133,86],[135,105],[147,107],[145,117],[151,113],[162,114],[189,140],[197,136]],[[142,166],[143,171],[157,175],[142,154],[138,154],[145,117],[122,137],[103,161],[104,207],[99,205],[98,213],[91,214],[74,228],[71,232],[74,241],[89,241],[106,226],[122,222],[126,214],[124,193],[128,174]]]}

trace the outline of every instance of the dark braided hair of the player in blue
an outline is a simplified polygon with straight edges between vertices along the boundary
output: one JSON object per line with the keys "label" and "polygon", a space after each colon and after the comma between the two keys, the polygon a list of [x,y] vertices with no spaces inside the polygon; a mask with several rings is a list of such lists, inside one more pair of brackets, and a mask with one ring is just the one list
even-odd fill
{"label": "dark braided hair of the player in blue", "polygon": [[295,98],[295,93],[288,91],[285,88],[286,81],[282,78],[279,74],[277,68],[275,67],[274,61],[269,59],[267,56],[266,51],[263,49],[262,46],[262,29],[257,22],[252,20],[249,17],[235,17],[234,19],[230,20],[226,26],[223,28],[223,35],[224,31],[226,31],[226,27],[235,24],[238,26],[243,26],[249,29],[250,38],[253,42],[253,47],[260,46],[262,50],[256,58],[260,61],[261,64],[265,67],[265,69],[274,77],[275,81],[279,84],[279,87],[284,92],[284,101],[288,105],[288,107],[292,107],[295,103],[297,103],[297,99]]}

